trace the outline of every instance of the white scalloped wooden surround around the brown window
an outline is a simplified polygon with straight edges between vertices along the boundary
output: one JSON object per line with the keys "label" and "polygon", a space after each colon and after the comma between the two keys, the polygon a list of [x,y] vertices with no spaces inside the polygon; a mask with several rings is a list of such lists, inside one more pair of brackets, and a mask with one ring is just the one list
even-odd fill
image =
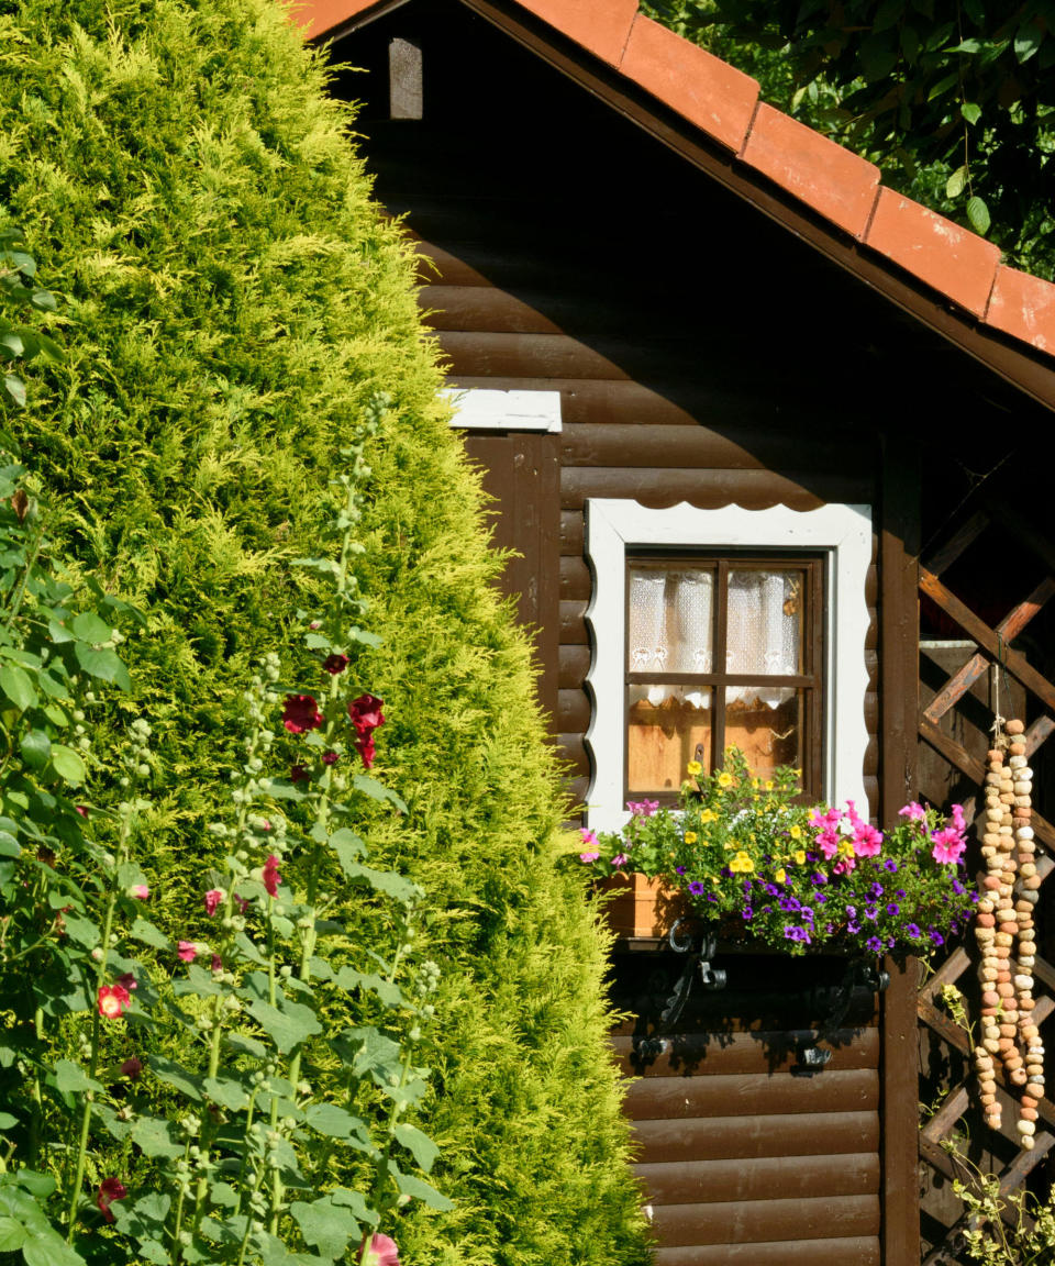
{"label": "white scalloped wooden surround around the brown window", "polygon": [[651,510],[633,500],[586,500],[586,558],[594,591],[586,609],[593,656],[586,687],[593,710],[586,746],[593,781],[586,822],[618,830],[629,814],[623,803],[626,768],[626,556],[628,549],[667,546],[683,549],[764,549],[824,556],[824,698],[822,765],[824,799],[868,804],[864,760],[868,748],[865,693],[869,627],[865,582],[871,563],[871,506],[831,504],[816,510],[774,505],[745,510],[728,505],[700,510],[681,503]]}

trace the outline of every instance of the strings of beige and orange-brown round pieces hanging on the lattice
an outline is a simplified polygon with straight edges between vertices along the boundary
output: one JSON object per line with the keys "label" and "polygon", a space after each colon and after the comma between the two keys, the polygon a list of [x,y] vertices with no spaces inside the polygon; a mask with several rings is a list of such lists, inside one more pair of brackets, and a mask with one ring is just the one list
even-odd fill
{"label": "strings of beige and orange-brown round pieces hanging on the lattice", "polygon": [[975,937],[982,952],[982,1044],[975,1048],[982,1108],[992,1129],[1001,1125],[995,1061],[1018,1091],[1016,1128],[1022,1147],[1033,1146],[1037,1104],[1044,1098],[1044,1044],[1033,1023],[1033,908],[1040,875],[1033,841],[1033,771],[1026,757],[1026,727],[1002,724],[988,755],[982,856],[988,874],[978,903]]}

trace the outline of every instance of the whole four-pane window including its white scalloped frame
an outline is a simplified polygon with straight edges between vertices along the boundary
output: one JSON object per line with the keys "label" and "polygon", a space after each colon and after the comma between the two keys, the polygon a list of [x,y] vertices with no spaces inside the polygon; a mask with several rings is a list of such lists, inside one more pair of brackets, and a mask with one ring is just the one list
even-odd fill
{"label": "whole four-pane window including its white scalloped frame", "polygon": [[591,827],[674,799],[685,763],[736,743],[864,804],[868,506],[650,510],[586,503],[595,585],[588,686]]}

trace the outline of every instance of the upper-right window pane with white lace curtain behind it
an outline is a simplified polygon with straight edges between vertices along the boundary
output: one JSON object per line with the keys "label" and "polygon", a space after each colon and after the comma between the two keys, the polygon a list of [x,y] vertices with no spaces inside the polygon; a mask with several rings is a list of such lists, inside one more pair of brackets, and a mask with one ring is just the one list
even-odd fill
{"label": "upper-right window pane with white lace curtain behind it", "polygon": [[805,573],[730,571],[727,672],[802,672]]}

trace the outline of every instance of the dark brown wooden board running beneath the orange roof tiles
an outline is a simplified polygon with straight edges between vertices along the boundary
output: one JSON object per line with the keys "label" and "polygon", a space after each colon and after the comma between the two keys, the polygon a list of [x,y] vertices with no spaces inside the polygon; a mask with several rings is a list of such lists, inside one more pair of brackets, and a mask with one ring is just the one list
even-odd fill
{"label": "dark brown wooden board running beneath the orange roof tiles", "polygon": [[[323,37],[339,39],[377,18],[412,3],[386,0],[355,15]],[[457,0],[472,13],[529,49],[553,70],[576,82],[610,109],[680,154],[730,192],[808,243],[826,260],[883,295],[954,347],[984,365],[1046,409],[1055,409],[1055,367],[1042,356],[992,330],[938,299],[868,246],[854,241],[808,206],[755,172],[730,151],[703,139],[699,130],[633,81],[607,66],[553,27],[519,5],[503,0]]]}

